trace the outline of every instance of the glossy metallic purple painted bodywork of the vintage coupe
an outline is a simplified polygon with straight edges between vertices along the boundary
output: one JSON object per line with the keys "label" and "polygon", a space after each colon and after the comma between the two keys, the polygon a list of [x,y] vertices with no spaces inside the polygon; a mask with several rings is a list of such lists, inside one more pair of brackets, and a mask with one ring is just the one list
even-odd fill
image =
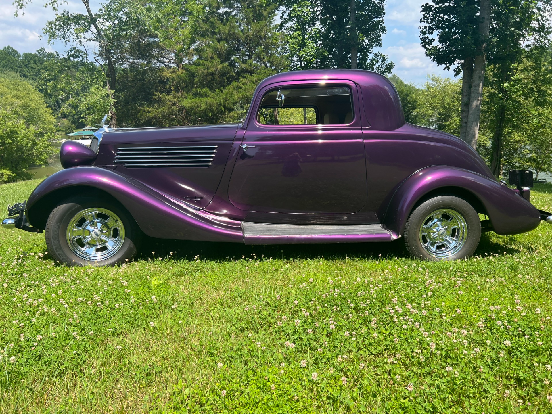
{"label": "glossy metallic purple painted bodywork of the vintage coupe", "polygon": [[[347,84],[348,125],[261,125],[263,94],[275,87]],[[66,143],[67,144],[67,143]],[[538,211],[501,185],[479,155],[444,132],[405,124],[390,81],[374,72],[286,72],[259,84],[243,124],[107,131],[94,159],[89,148],[62,146],[68,168],[31,194],[26,214],[44,229],[62,198],[93,191],[118,200],[153,237],[248,244],[391,241],[416,203],[431,192],[461,190],[479,201],[501,235],[529,231]],[[254,146],[244,151],[241,145]],[[127,168],[120,147],[216,146],[207,168]],[[81,148],[82,147],[82,148]],[[83,149],[84,148],[84,149]],[[436,194],[436,193],[432,193]],[[198,200],[189,200],[196,197]],[[251,236],[242,222],[382,224],[389,233]]]}

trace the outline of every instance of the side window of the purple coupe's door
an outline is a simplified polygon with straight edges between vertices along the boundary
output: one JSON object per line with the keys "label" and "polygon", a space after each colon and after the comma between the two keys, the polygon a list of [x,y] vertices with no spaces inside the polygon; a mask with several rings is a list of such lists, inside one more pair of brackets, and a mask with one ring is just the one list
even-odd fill
{"label": "side window of the purple coupe's door", "polygon": [[263,125],[346,125],[353,118],[346,86],[274,89],[264,95],[257,113]]}

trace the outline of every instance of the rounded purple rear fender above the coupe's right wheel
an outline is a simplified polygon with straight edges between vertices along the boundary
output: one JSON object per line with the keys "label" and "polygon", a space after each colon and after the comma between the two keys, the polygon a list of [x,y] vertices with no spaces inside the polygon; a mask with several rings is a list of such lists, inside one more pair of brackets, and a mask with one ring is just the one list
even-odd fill
{"label": "rounded purple rear fender above the coupe's right wheel", "polygon": [[402,234],[408,216],[416,203],[429,193],[447,193],[454,189],[468,192],[479,200],[491,220],[492,229],[499,235],[513,235],[535,229],[539,211],[529,201],[495,179],[455,167],[432,166],[408,177],[393,195],[383,223]]}

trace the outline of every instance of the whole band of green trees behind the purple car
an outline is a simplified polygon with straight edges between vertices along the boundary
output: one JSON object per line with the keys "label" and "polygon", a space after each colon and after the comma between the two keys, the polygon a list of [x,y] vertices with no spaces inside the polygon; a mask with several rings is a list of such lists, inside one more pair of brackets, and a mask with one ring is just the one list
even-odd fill
{"label": "whole band of green trees behind the purple car", "polygon": [[[29,1],[14,4],[22,12]],[[551,2],[424,4],[426,55],[462,79],[416,86],[391,76],[406,120],[459,135],[497,176],[506,167],[552,169]],[[97,8],[81,0],[71,12],[61,0],[43,4],[57,12],[44,33],[66,52],[0,50],[0,72],[13,83],[0,82],[6,130],[26,128],[22,136],[35,140],[98,124],[105,113],[112,126],[236,122],[273,73],[389,75],[394,67],[376,51],[385,0],[105,0]]]}

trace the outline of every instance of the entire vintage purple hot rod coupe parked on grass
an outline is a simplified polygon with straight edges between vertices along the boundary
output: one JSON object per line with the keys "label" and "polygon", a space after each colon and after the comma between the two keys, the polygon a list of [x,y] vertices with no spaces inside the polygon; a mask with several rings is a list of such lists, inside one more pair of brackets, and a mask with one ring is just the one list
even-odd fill
{"label": "entire vintage purple hot rod coupe parked on grass", "polygon": [[402,236],[412,256],[453,260],[473,254],[482,231],[552,222],[465,142],[405,123],[391,82],[369,71],[271,76],[239,124],[94,135],[90,147],[64,142],[65,169],[2,224],[45,230],[67,265],[124,262],[144,234],[262,245]]}

